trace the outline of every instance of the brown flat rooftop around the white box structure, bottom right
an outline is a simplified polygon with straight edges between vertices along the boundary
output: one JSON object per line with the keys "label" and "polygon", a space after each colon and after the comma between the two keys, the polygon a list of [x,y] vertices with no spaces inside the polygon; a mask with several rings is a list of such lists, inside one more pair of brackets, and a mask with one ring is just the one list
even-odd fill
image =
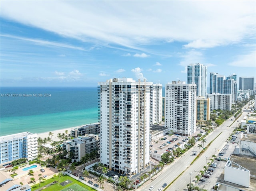
{"label": "brown flat rooftop around the white box structure, bottom right", "polygon": [[[256,176],[256,165],[255,165],[255,158],[253,157],[248,157],[248,156],[237,156],[237,155],[232,155],[230,158],[231,161],[239,164],[240,166],[248,169],[250,171],[250,175]],[[244,187],[232,182],[228,182],[224,180],[224,171],[222,171],[220,177],[216,181],[217,183],[227,185],[229,187],[234,187],[237,189],[240,189],[242,191],[255,191],[256,189],[256,177],[251,177],[250,176],[250,187]]]}

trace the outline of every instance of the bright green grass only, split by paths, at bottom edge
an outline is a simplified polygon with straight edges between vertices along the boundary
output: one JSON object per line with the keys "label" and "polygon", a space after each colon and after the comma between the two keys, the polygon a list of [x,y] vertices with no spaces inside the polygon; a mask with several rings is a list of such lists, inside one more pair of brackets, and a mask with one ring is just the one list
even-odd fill
{"label": "bright green grass only, split by paths, at bottom edge", "polygon": [[50,178],[50,179],[48,179],[48,180],[46,180],[44,182],[41,182],[40,187],[39,187],[39,184],[33,185],[31,190],[34,191],[36,189],[40,189],[40,188],[44,188],[45,187],[43,189],[44,191],[58,191],[58,190],[63,190],[65,188],[68,188],[71,185],[78,184],[78,185],[80,185],[81,187],[84,188],[83,189],[84,191],[96,191],[95,189],[93,189],[93,188],[91,188],[91,187],[81,183],[80,181],[78,181],[76,179],[73,179],[72,177],[70,177],[68,175],[64,175],[64,176],[60,177],[60,182],[59,183],[62,183],[64,181],[66,181],[66,180],[72,181],[71,183],[69,183],[69,184],[67,184],[65,186],[62,186],[60,184],[58,185],[58,183],[56,183],[56,184],[53,184],[53,185],[50,185],[50,186],[46,187],[48,184],[52,183],[53,181],[58,181],[58,180],[59,180],[58,176],[52,177],[52,178]]}

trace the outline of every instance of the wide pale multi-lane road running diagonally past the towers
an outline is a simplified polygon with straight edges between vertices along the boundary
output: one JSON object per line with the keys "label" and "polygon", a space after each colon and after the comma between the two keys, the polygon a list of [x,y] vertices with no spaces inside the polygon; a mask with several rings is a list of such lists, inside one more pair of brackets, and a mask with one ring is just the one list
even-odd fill
{"label": "wide pale multi-lane road running diagonally past the towers", "polygon": [[[247,106],[246,106],[247,108]],[[243,112],[241,117],[237,120],[239,122],[242,120],[242,117],[246,114]],[[231,120],[232,119],[232,120]],[[236,122],[229,127],[234,122],[234,117],[229,118],[225,121],[221,126],[216,128],[214,132],[210,133],[206,140],[207,142],[204,143],[204,146],[208,145],[214,138],[216,138],[221,132],[221,134],[212,142],[212,144],[208,147],[208,149],[200,155],[200,157],[192,164],[190,163],[194,160],[195,156],[193,155],[194,151],[199,152],[199,148],[197,147],[198,144],[202,144],[200,141],[196,142],[195,146],[184,153],[180,158],[176,159],[170,165],[164,167],[164,169],[160,172],[161,174],[158,175],[153,180],[149,180],[147,183],[142,185],[138,190],[148,190],[150,186],[154,186],[154,190],[161,188],[164,183],[170,184],[178,175],[184,171],[184,173],[176,180],[170,187],[168,187],[168,191],[180,191],[186,189],[186,185],[190,183],[190,173],[192,180],[195,178],[196,175],[199,174],[199,171],[203,169],[206,165],[206,162],[209,162],[212,155],[218,153],[224,145],[226,144],[227,138],[230,136],[234,128],[236,127]],[[215,153],[216,152],[216,153]],[[206,158],[208,157],[208,158]],[[207,159],[207,160],[206,160]]]}

